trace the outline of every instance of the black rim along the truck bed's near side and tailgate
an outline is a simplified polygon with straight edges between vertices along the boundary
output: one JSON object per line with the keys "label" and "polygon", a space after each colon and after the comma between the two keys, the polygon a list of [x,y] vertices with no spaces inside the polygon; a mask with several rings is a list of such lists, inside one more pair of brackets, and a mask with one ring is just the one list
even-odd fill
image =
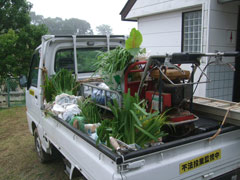
{"label": "black rim along the truck bed's near side and tailgate", "polygon": [[[64,120],[54,117],[56,121],[70,129],[76,135],[87,141],[89,144],[97,148],[99,151],[107,155],[109,158],[114,160],[117,164],[121,164],[126,160],[131,160],[136,157],[149,155],[151,153],[167,150],[169,148],[176,148],[178,146],[182,146],[184,144],[196,142],[198,140],[208,139],[216,133],[216,130],[219,128],[219,123],[216,120],[200,117],[198,121],[194,122],[195,130],[183,137],[170,137],[164,139],[164,144],[148,147],[146,149],[141,149],[138,151],[130,152],[126,155],[118,155],[117,153],[113,152],[111,149],[106,147],[105,145],[99,144],[96,145],[96,142],[91,139],[87,134],[75,129]],[[239,130],[240,128],[231,124],[226,124],[221,134],[225,134],[231,131]]]}

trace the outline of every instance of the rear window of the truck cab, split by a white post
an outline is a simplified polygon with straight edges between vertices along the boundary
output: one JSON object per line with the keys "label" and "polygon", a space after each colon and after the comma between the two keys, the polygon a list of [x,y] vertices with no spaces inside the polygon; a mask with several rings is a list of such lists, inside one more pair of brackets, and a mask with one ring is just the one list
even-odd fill
{"label": "rear window of the truck cab, split by a white post", "polygon": [[[106,51],[106,48],[79,48],[77,49],[78,73],[94,72],[96,68],[94,63],[100,52]],[[58,50],[55,56],[55,72],[60,69],[74,71],[74,52],[73,49]]]}

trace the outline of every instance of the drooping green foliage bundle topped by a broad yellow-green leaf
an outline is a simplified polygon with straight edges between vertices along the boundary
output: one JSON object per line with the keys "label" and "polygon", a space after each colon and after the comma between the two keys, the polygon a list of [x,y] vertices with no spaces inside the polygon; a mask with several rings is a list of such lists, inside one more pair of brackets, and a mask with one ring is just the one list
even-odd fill
{"label": "drooping green foliage bundle topped by a broad yellow-green leaf", "polygon": [[121,84],[123,72],[128,65],[135,62],[134,58],[138,54],[145,52],[140,48],[141,43],[142,34],[133,28],[126,41],[126,48],[117,47],[108,52],[99,53],[95,67],[104,82],[113,90],[117,90]]}

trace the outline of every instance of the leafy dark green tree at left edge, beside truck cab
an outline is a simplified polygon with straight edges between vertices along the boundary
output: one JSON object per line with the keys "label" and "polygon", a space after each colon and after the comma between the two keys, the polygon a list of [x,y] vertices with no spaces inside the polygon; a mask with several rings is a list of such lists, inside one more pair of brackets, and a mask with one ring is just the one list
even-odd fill
{"label": "leafy dark green tree at left edge, beside truck cab", "polygon": [[32,53],[47,28],[30,24],[31,4],[25,0],[4,0],[0,4],[3,7],[0,8],[0,19],[3,20],[0,24],[1,80],[27,74]]}

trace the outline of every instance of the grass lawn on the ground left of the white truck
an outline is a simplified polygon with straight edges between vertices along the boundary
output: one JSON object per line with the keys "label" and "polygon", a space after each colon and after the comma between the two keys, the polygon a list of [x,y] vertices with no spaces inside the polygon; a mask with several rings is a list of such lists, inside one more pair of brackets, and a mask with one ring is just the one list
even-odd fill
{"label": "grass lawn on the ground left of the white truck", "polygon": [[67,180],[62,160],[41,164],[34,149],[26,108],[0,110],[0,180]]}

